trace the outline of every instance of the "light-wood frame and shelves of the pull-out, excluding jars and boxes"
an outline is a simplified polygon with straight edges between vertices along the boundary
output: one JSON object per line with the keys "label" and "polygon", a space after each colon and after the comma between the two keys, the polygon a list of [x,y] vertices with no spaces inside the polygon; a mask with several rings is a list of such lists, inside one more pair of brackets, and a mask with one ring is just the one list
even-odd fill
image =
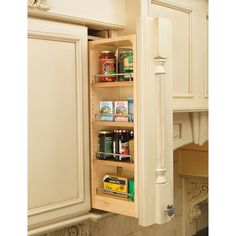
{"label": "light-wood frame and shelves of the pull-out, excluding jars and boxes", "polygon": [[[118,47],[133,49],[133,81],[96,82],[99,75],[99,56],[103,50],[116,51]],[[92,208],[114,212],[121,215],[138,217],[137,193],[137,127],[135,122],[100,121],[96,119],[99,114],[100,101],[126,101],[134,99],[134,121],[136,120],[136,36],[122,36],[96,40],[89,43],[90,57],[90,140],[91,140],[91,200]],[[119,76],[119,75],[117,75]],[[98,135],[100,130],[117,129],[134,130],[134,163],[110,160],[98,160]],[[99,190],[103,187],[103,177],[107,174],[125,176],[125,173],[134,177],[134,201],[128,197],[120,197],[104,193]]]}

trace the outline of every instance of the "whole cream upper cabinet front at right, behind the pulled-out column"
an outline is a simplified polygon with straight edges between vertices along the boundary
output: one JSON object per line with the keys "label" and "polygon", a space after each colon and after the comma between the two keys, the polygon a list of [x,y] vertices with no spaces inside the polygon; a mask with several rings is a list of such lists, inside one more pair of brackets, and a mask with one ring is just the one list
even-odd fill
{"label": "whole cream upper cabinet front at right, behind the pulled-out column", "polygon": [[173,109],[208,107],[207,0],[152,0],[150,16],[167,18],[173,27]]}

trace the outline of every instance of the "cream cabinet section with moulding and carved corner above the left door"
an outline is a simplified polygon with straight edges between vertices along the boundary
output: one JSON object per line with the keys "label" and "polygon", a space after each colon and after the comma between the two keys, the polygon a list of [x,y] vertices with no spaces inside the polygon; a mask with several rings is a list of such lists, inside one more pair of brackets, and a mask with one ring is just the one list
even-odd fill
{"label": "cream cabinet section with moulding and carved corner above the left door", "polygon": [[[38,4],[37,2],[41,2]],[[80,22],[92,29],[126,27],[126,0],[44,0],[29,1],[29,15],[47,19]],[[45,11],[46,10],[46,11]]]}

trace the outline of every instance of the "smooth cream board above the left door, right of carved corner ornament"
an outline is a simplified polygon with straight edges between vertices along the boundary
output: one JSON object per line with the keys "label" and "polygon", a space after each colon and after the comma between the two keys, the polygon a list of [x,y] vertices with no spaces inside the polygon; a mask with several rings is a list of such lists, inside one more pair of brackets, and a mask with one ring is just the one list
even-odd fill
{"label": "smooth cream board above the left door, right of carved corner ornament", "polygon": [[49,13],[125,27],[125,0],[49,0]]}

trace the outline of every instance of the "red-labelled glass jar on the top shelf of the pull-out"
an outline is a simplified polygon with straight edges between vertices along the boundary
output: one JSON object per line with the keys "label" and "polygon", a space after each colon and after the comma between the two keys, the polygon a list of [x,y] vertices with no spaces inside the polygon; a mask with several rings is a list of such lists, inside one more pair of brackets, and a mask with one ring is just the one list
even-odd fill
{"label": "red-labelled glass jar on the top shelf of the pull-out", "polygon": [[100,71],[101,75],[109,75],[100,77],[100,82],[113,82],[116,81],[115,76],[111,76],[116,73],[116,56],[114,52],[111,51],[101,51],[99,57]]}

